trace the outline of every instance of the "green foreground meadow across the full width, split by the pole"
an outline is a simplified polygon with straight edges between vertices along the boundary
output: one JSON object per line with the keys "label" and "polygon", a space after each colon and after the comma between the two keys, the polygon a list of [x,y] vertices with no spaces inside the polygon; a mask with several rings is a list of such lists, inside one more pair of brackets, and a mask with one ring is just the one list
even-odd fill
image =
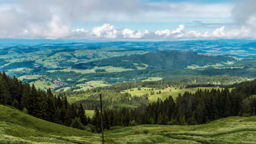
{"label": "green foreground meadow across the full width, split by the pole", "polygon": [[[144,130],[149,133],[143,134]],[[238,116],[205,125],[139,125],[104,131],[106,144],[255,144],[255,137],[256,118]],[[0,105],[0,143],[101,144],[101,134],[47,122]]]}

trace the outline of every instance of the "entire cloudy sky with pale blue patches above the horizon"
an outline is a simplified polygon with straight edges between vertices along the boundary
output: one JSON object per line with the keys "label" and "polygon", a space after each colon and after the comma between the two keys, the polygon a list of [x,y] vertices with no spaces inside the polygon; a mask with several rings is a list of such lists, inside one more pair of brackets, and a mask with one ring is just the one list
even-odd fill
{"label": "entire cloudy sky with pale blue patches above the horizon", "polygon": [[0,38],[255,39],[256,0],[0,0]]}

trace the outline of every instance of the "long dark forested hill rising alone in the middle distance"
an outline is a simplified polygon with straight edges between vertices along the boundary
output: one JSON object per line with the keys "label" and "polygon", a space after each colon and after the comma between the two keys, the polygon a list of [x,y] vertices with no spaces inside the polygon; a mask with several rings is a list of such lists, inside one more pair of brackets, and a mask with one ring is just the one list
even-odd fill
{"label": "long dark forested hill rising alone in the middle distance", "polygon": [[226,65],[225,62],[235,61],[232,57],[207,56],[191,51],[159,51],[142,55],[112,57],[109,59],[95,60],[87,63],[79,63],[72,68],[92,69],[93,66],[122,66],[124,68],[134,68],[134,63],[149,65],[147,69],[183,69],[190,65],[206,66]]}

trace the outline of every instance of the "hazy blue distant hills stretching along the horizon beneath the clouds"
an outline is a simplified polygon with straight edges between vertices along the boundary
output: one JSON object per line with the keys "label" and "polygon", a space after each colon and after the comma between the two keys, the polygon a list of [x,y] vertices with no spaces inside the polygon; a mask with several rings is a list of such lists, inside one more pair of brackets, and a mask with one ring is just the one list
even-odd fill
{"label": "hazy blue distant hills stretching along the horizon beneath the clouds", "polygon": [[256,40],[187,40],[187,41],[106,41],[106,40],[27,40],[0,39],[0,49],[10,46],[36,47],[109,47],[122,50],[194,51],[197,53],[247,57],[256,55]]}

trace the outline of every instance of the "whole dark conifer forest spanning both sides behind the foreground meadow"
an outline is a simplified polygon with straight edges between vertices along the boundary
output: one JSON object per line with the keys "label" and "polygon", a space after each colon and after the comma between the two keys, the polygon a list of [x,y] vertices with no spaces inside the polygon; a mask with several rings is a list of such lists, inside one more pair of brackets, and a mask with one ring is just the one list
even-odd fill
{"label": "whole dark conifer forest spanning both sides behind the foreground meadow", "polygon": [[[161,83],[163,81],[157,81],[155,84],[160,86]],[[140,84],[149,86],[154,82]],[[116,91],[119,91],[131,86],[131,84],[123,84],[122,86],[93,88],[88,91],[104,93],[109,89],[109,95],[106,93],[104,95],[110,97],[111,89],[115,91],[117,88]],[[37,90],[34,85],[22,83],[16,77],[10,78],[4,72],[0,73],[0,104],[11,105],[24,113],[50,122],[100,132],[100,113],[97,106],[91,106],[95,107],[93,118],[87,118],[84,111],[84,104],[99,103],[99,100],[85,100],[84,104],[80,103],[81,101],[69,103],[66,95],[73,93],[82,94],[81,91],[66,92],[66,94],[62,92],[54,96],[50,89],[47,91]],[[228,88],[210,91],[197,90],[194,94],[188,92],[178,94],[175,99],[169,96],[165,100],[158,99],[149,104],[140,103],[140,106],[131,109],[105,107],[103,109],[103,126],[104,129],[110,129],[114,126],[142,124],[197,125],[228,116],[251,116],[253,107],[256,106],[256,98],[252,97],[255,94],[256,80],[253,80],[236,84],[231,91]],[[123,96],[124,100],[127,97],[127,101],[131,97],[127,93],[124,93]],[[97,94],[90,97],[97,97]],[[137,98],[146,100],[146,97],[134,97],[134,101],[140,101]]]}

